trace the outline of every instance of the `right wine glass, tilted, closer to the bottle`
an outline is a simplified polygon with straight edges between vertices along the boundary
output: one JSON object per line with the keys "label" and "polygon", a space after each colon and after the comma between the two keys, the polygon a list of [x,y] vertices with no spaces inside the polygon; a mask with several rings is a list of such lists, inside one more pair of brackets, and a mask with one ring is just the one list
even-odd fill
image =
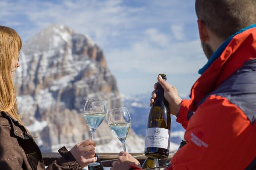
{"label": "right wine glass, tilted, closer to the bottle", "polygon": [[131,117],[126,107],[109,110],[107,116],[108,126],[121,141],[123,151],[126,152],[125,139],[131,126]]}

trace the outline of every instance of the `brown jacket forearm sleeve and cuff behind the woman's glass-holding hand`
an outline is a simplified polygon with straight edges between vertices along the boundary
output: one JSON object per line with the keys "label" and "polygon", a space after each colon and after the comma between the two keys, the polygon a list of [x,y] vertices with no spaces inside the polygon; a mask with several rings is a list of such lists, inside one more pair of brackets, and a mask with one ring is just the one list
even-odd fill
{"label": "brown jacket forearm sleeve and cuff behind the woman's glass-holding hand", "polygon": [[51,165],[49,165],[46,170],[81,170],[82,168],[79,166],[74,156],[70,151],[66,149],[66,147],[62,147],[59,149],[59,153],[61,154],[61,158],[53,161]]}

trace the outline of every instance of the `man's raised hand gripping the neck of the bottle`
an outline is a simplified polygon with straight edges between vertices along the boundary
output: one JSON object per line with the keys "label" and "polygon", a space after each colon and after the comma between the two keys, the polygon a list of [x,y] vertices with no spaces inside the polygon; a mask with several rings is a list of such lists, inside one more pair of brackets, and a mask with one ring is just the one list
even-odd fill
{"label": "man's raised hand gripping the neck of the bottle", "polygon": [[[169,109],[171,114],[177,115],[180,110],[180,105],[182,99],[180,98],[178,91],[175,87],[172,85],[166,83],[164,79],[162,79],[161,76],[158,76],[157,78],[158,83],[163,87],[164,89],[164,98],[169,103]],[[155,102],[155,99],[157,97],[156,89],[157,89],[157,83],[154,85],[154,91],[152,92],[152,97],[150,99],[150,106]]]}

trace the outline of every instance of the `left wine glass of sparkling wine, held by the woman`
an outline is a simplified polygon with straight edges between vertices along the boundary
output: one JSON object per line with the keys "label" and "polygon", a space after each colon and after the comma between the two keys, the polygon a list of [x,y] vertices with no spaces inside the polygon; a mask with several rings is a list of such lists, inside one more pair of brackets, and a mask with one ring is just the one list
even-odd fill
{"label": "left wine glass of sparkling wine, held by the woman", "polygon": [[[84,117],[91,131],[91,140],[95,130],[106,116],[106,102],[99,99],[87,99],[84,106]],[[100,165],[98,162],[90,163],[90,166]]]}

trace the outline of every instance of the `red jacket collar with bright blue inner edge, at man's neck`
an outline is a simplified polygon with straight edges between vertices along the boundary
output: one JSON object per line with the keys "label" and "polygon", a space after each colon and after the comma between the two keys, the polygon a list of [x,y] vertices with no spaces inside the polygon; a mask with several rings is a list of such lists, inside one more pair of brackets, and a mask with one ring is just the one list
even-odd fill
{"label": "red jacket collar with bright blue inner edge, at man's neck", "polygon": [[[221,51],[222,48],[224,48],[223,51]],[[192,111],[197,109],[200,100],[214,91],[246,61],[256,58],[256,25],[236,33],[219,49],[201,69],[202,75],[191,88],[189,109]]]}

